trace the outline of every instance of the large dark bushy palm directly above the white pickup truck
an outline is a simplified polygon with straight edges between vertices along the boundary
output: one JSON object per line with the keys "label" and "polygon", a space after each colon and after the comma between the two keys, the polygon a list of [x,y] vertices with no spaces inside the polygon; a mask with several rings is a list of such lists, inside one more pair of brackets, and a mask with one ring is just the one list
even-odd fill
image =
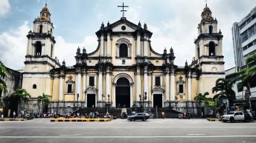
{"label": "large dark bushy palm directly above the white pickup truck", "polygon": [[212,88],[212,93],[216,92],[217,94],[214,96],[213,99],[228,99],[229,108],[234,104],[235,93],[232,90],[232,86],[234,81],[231,82],[227,79],[217,79],[215,83],[215,87]]}

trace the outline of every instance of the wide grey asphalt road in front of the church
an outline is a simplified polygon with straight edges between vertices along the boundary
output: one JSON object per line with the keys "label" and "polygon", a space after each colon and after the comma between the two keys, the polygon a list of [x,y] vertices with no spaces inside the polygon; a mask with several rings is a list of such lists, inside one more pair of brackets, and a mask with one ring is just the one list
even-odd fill
{"label": "wide grey asphalt road in front of the church", "polygon": [[147,122],[0,122],[0,142],[7,143],[162,143],[256,142],[256,122],[208,122],[206,119],[150,119]]}

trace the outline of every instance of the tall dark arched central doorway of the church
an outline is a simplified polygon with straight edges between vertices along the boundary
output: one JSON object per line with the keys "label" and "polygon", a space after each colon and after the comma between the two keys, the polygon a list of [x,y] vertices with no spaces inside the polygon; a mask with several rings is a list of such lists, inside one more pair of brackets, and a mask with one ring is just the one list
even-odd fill
{"label": "tall dark arched central doorway of the church", "polygon": [[129,107],[130,104],[130,89],[129,81],[126,78],[120,78],[115,87],[115,102],[116,107]]}

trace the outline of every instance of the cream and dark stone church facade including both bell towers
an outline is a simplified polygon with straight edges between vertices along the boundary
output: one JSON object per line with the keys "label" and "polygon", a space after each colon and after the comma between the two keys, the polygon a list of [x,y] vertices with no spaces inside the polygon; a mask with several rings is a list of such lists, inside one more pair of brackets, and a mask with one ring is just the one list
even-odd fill
{"label": "cream and dark stone church facade including both bell towers", "polygon": [[[54,26],[47,5],[28,33],[22,88],[31,93],[30,103],[42,93],[52,96],[49,112],[65,113],[72,107],[173,107],[193,110],[194,97],[223,78],[223,35],[217,19],[206,6],[194,41],[191,63],[175,64],[173,49],[156,53],[147,24],[134,24],[124,16],[100,26],[98,45],[92,53],[74,51],[76,63],[68,67],[54,58]],[[195,27],[196,28],[196,27]]]}

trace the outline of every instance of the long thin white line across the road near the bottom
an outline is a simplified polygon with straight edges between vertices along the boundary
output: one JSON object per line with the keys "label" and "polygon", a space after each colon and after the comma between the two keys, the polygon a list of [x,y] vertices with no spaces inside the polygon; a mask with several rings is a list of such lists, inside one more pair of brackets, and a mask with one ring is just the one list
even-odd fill
{"label": "long thin white line across the road near the bottom", "polygon": [[241,137],[256,137],[256,136],[0,136],[0,139],[57,139],[57,138],[72,138],[72,139],[106,139],[106,138],[241,138]]}

